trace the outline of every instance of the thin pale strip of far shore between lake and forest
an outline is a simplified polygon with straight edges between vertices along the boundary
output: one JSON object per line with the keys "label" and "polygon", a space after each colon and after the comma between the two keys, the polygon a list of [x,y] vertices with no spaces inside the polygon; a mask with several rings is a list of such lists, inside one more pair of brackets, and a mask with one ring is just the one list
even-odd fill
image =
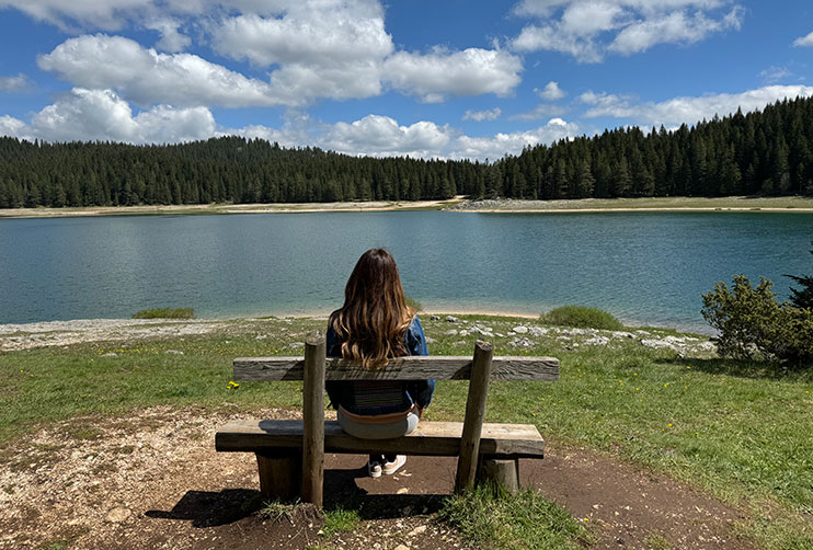
{"label": "thin pale strip of far shore between lake and forest", "polygon": [[469,200],[458,195],[442,200],[371,200],[343,203],[270,203],[206,205],[87,206],[66,208],[0,208],[2,218],[67,218],[98,216],[157,216],[215,214],[312,214],[397,210],[445,210],[481,214],[566,213],[813,213],[813,197],[645,197],[581,198],[558,200],[485,199]]}

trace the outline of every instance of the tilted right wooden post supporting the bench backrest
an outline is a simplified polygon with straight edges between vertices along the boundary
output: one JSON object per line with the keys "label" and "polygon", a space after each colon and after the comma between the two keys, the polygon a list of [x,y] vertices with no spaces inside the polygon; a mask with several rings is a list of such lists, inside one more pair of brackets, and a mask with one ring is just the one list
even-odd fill
{"label": "tilted right wooden post supporting the bench backrest", "polygon": [[493,344],[482,341],[474,344],[469,397],[466,401],[466,420],[463,421],[463,433],[460,436],[460,457],[457,460],[457,477],[455,479],[455,492],[457,493],[471,490],[474,486],[493,356]]}

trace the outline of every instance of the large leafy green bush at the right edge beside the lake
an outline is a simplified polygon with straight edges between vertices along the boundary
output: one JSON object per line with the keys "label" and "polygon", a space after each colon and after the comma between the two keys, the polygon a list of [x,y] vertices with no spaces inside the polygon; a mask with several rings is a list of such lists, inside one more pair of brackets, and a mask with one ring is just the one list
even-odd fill
{"label": "large leafy green bush at the right edge beside the lake", "polygon": [[720,332],[722,357],[810,365],[813,362],[813,310],[777,302],[772,283],[764,277],[754,288],[745,275],[702,295],[703,318]]}

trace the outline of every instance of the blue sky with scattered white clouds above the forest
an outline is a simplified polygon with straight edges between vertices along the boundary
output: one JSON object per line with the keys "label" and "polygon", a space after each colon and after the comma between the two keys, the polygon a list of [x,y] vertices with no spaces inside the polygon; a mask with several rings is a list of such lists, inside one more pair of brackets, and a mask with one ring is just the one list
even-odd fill
{"label": "blue sky with scattered white clouds above the forest", "polygon": [[813,95],[810,0],[0,0],[0,135],[495,160]]}

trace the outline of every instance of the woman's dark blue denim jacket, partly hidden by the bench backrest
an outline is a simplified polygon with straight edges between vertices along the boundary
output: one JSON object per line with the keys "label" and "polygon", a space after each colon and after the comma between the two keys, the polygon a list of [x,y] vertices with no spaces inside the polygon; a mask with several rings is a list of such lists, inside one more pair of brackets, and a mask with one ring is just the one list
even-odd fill
{"label": "woman's dark blue denim jacket, partly hidden by the bench backrest", "polygon": [[[406,329],[404,343],[409,355],[430,354],[417,316]],[[328,328],[325,344],[328,357],[342,356],[342,342],[332,326]],[[426,409],[435,391],[435,380],[328,380],[324,386],[334,409],[342,405],[347,412],[365,416],[404,412],[413,404]],[[367,399],[373,403],[365,402]]]}

